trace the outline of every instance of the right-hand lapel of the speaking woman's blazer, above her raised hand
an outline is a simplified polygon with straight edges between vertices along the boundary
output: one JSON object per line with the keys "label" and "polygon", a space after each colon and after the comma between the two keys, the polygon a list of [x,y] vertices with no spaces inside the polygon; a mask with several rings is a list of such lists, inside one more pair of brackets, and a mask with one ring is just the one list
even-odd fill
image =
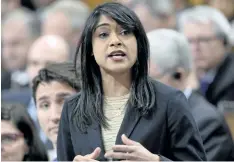
{"label": "right-hand lapel of the speaking woman's blazer, above her raised hand", "polygon": [[128,107],[120,126],[119,132],[116,137],[115,144],[123,144],[121,140],[121,135],[125,134],[127,137],[131,136],[132,131],[136,127],[138,121],[140,120],[141,115],[133,107]]}

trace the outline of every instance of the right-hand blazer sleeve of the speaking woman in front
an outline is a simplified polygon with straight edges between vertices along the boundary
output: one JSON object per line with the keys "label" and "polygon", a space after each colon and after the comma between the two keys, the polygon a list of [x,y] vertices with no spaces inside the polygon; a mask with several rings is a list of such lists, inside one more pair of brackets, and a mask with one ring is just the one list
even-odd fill
{"label": "right-hand blazer sleeve of the speaking woman in front", "polygon": [[182,92],[174,94],[169,101],[167,115],[173,160],[206,160],[200,133],[189,111],[188,101]]}

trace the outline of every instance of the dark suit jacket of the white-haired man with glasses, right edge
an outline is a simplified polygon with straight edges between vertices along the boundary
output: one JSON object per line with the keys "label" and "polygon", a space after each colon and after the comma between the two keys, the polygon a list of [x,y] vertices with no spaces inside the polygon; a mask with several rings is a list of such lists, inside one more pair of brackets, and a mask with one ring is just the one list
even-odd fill
{"label": "dark suit jacket of the white-haired man with glasses, right edge", "polygon": [[233,53],[229,54],[218,68],[213,82],[208,87],[206,98],[210,103],[221,108],[225,108],[225,103],[222,103],[222,101],[234,101]]}

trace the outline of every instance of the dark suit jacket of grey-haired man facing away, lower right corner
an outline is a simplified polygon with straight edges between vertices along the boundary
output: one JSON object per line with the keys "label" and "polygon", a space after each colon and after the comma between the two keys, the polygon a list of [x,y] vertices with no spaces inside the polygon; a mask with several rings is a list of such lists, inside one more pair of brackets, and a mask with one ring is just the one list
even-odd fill
{"label": "dark suit jacket of grey-haired man facing away, lower right corner", "polygon": [[200,94],[189,97],[209,161],[234,161],[234,144],[224,116]]}

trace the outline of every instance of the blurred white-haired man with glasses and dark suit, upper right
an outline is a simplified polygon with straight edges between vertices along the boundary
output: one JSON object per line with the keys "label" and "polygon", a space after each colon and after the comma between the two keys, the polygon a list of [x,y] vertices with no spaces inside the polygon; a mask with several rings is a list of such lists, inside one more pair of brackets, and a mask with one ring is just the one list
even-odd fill
{"label": "blurred white-haired man with glasses and dark suit, upper right", "polygon": [[233,109],[234,55],[226,17],[214,8],[196,6],[181,14],[179,30],[189,40],[203,95],[221,109]]}

